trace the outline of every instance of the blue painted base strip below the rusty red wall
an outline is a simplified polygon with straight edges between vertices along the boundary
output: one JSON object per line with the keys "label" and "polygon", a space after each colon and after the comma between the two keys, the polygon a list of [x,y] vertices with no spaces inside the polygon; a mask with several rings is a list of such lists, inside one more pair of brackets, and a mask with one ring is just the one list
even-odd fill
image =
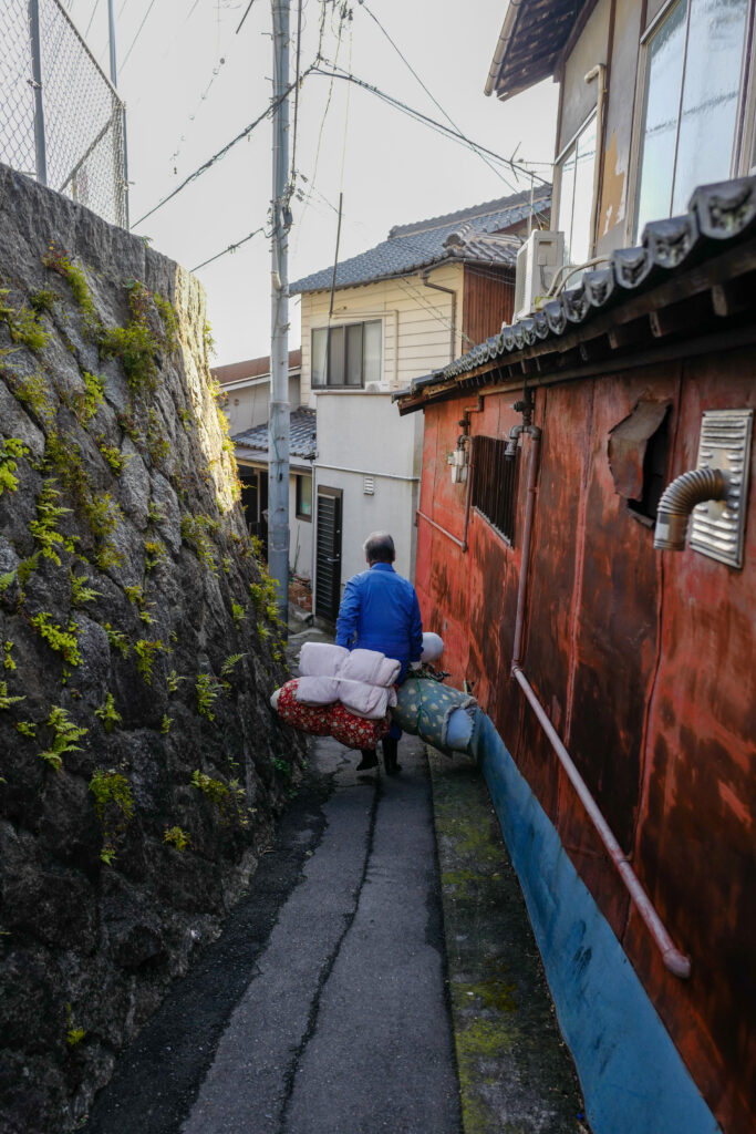
{"label": "blue painted base strip below the rusty red wall", "polygon": [[594,1134],[721,1134],[555,828],[484,713],[475,742]]}

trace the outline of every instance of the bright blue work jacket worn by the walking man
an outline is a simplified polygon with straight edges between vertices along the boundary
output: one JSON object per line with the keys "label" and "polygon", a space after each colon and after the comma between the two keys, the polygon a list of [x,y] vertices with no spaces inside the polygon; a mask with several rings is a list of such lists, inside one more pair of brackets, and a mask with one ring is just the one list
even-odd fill
{"label": "bright blue work jacket worn by the walking man", "polygon": [[373,564],[347,583],[335,624],[337,645],[379,650],[401,662],[399,680],[423,651],[423,621],[415,587],[391,564]]}

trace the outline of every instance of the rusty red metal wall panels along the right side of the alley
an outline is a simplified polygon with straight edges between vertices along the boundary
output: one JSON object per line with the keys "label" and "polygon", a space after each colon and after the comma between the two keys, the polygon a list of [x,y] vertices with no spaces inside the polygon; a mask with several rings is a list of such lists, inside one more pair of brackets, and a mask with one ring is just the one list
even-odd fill
{"label": "rusty red metal wall panels along the right side of the alley", "polygon": [[[671,404],[671,480],[695,467],[705,409],[753,406],[753,354],[659,364],[536,392],[543,428],[524,669],[676,943],[661,964],[571,785],[510,677],[513,547],[475,510],[467,553],[419,518],[417,590],[444,668],[467,680],[557,827],[725,1131],[756,1126],[753,659],[756,491],[742,570],[653,549],[615,490],[610,431],[644,398]],[[503,437],[515,395],[491,395],[473,434]],[[465,485],[447,454],[472,398],[430,406],[421,511],[461,538]],[[756,458],[754,460],[756,463]],[[518,522],[524,514],[520,477]]]}

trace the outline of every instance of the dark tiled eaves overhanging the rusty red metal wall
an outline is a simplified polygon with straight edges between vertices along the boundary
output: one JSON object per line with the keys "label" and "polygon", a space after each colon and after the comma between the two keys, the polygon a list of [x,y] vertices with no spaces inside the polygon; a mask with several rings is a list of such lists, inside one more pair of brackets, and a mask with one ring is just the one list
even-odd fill
{"label": "dark tiled eaves overhanging the rusty red metal wall", "polygon": [[696,191],[579,287],[393,395],[400,414],[482,388],[554,384],[756,345],[756,178]]}

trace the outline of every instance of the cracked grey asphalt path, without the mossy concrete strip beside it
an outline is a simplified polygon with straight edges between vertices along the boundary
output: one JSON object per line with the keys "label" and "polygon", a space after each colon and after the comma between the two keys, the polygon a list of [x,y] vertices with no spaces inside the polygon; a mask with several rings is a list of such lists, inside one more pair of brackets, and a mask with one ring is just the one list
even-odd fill
{"label": "cracked grey asphalt path, without the mossy concrete strip beside it", "polygon": [[121,1057],[87,1134],[460,1134],[424,747],[318,739],[223,933]]}

